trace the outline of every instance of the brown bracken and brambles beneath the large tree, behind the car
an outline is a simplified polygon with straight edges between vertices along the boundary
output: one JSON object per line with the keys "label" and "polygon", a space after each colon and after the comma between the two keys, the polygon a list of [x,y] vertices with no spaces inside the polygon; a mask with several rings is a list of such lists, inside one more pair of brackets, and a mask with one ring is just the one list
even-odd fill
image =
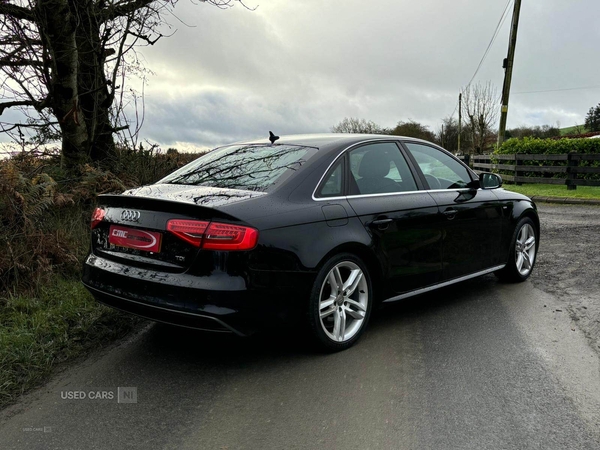
{"label": "brown bracken and brambles beneath the large tree, behind the car", "polygon": [[[52,274],[78,276],[97,195],[149,184],[198,155],[155,149],[120,153],[112,171],[66,173],[58,156],[0,160],[0,289],[36,292]],[[0,291],[0,296],[1,296]]]}

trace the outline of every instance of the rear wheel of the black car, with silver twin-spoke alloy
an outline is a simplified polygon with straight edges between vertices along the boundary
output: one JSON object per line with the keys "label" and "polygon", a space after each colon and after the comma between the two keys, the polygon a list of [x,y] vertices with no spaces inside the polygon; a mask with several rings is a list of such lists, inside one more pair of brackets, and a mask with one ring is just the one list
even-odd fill
{"label": "rear wheel of the black car, with silver twin-spoke alloy", "polygon": [[365,330],[372,307],[366,265],[349,253],[330,258],[311,290],[308,324],[313,341],[329,352],[351,347]]}

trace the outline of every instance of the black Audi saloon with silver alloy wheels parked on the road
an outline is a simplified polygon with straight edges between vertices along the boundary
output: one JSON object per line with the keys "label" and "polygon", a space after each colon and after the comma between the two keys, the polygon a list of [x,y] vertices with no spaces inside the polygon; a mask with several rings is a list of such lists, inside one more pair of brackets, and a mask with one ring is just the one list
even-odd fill
{"label": "black Audi saloon with silver alloy wheels parked on the road", "polygon": [[418,139],[271,134],[101,195],[83,283],[156,321],[249,335],[297,319],[343,350],[380,302],[529,277],[536,206],[501,185]]}

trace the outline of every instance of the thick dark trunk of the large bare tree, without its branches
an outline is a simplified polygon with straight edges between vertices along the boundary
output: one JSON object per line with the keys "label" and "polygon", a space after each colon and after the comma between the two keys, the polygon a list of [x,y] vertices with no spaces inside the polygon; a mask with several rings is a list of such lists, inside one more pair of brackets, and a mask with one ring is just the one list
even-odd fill
{"label": "thick dark trunk of the large bare tree, without its branches", "polygon": [[50,107],[62,133],[67,170],[114,150],[100,23],[90,0],[43,0],[40,37],[48,49]]}

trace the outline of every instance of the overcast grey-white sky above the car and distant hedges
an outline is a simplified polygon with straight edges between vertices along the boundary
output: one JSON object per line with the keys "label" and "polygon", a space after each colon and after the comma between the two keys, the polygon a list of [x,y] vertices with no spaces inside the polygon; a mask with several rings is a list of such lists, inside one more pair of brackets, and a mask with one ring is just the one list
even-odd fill
{"label": "overcast grey-white sky above the car and distant hedges", "polygon": [[[437,131],[507,0],[246,3],[257,9],[179,0],[175,34],[140,50],[154,72],[143,139],[206,148],[269,130],[327,132],[344,117],[384,127],[413,119]],[[512,3],[475,78],[498,92],[511,15]],[[599,21],[598,0],[523,0],[509,128],[572,126],[600,102]],[[593,88],[523,93],[580,87]]]}

